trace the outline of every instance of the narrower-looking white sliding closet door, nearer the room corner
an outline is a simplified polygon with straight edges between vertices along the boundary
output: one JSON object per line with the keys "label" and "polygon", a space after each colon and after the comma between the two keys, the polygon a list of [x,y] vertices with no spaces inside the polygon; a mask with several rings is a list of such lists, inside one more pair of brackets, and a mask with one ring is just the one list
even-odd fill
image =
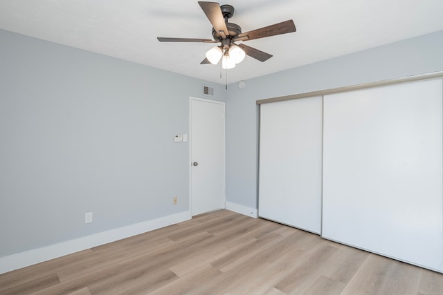
{"label": "narrower-looking white sliding closet door, nearer the room corner", "polygon": [[320,234],[322,97],[260,106],[259,216]]}

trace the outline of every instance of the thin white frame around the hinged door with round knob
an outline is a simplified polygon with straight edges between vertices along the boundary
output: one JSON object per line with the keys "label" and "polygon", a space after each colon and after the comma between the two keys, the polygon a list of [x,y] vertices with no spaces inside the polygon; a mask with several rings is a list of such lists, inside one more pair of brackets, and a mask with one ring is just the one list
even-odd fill
{"label": "thin white frame around the hinged door with round knob", "polygon": [[189,156],[188,156],[188,165],[189,165],[189,211],[192,218],[192,101],[198,102],[206,102],[210,104],[221,104],[223,106],[223,117],[224,117],[224,125],[223,125],[223,200],[222,209],[226,209],[226,103],[221,102],[219,100],[213,99],[205,99],[199,97],[189,97]]}

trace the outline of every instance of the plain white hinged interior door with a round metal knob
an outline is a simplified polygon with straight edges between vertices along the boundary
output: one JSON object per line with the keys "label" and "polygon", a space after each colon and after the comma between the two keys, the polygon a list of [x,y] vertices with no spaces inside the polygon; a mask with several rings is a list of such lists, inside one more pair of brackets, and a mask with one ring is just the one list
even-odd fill
{"label": "plain white hinged interior door with a round metal knob", "polygon": [[225,105],[190,99],[191,213],[224,208]]}

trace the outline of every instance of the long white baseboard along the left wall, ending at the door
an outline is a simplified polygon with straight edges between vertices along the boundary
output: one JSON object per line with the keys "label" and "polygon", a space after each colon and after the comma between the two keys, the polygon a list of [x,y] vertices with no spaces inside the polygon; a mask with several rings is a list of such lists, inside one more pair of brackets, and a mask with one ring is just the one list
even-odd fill
{"label": "long white baseboard along the left wall, ending at the door", "polygon": [[89,249],[114,242],[130,236],[143,234],[147,231],[174,225],[178,222],[190,220],[192,218],[190,211],[185,211],[154,220],[147,220],[145,222],[136,223],[135,225],[128,225],[127,227],[119,227],[118,229],[111,229],[103,231],[91,236],[84,236],[66,242],[60,242],[55,245],[50,245],[30,251],[13,254],[10,256],[0,258],[0,274],[10,272],[21,267],[27,267],[36,263],[42,263],[46,260],[73,254],[78,251]]}

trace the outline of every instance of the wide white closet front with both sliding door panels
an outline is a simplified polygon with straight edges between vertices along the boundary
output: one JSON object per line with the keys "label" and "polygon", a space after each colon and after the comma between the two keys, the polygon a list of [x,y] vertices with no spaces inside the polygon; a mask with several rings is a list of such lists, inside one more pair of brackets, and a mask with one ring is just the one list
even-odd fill
{"label": "wide white closet front with both sliding door panels", "polygon": [[443,272],[441,77],[257,102],[259,216]]}

